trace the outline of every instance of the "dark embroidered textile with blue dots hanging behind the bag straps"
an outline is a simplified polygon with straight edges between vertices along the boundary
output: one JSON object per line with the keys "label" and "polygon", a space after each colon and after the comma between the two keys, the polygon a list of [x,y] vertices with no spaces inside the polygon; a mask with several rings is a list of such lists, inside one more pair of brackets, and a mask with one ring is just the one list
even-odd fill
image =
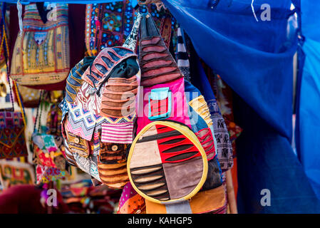
{"label": "dark embroidered textile with blue dots hanging behind the bag straps", "polygon": [[[140,7],[140,9],[143,7]],[[106,47],[121,46],[133,28],[136,13],[140,11],[132,6],[131,0],[120,0],[103,4],[86,5],[86,56],[97,56]],[[141,9],[141,13],[147,6]],[[160,27],[162,38],[168,46],[170,43],[171,28],[175,28],[167,10],[158,11],[153,4],[148,6],[156,25]],[[175,31],[174,31],[175,32]]]}

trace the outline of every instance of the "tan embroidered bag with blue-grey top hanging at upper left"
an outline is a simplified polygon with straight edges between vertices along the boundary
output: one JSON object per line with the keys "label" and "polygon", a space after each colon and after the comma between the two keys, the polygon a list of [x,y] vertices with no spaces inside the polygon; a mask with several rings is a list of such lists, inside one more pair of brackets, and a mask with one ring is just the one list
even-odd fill
{"label": "tan embroidered bag with blue-grey top hanging at upper left", "polygon": [[26,6],[22,36],[14,45],[11,78],[22,86],[50,90],[49,84],[66,80],[70,68],[68,4],[54,4],[44,16],[46,23],[36,4]]}

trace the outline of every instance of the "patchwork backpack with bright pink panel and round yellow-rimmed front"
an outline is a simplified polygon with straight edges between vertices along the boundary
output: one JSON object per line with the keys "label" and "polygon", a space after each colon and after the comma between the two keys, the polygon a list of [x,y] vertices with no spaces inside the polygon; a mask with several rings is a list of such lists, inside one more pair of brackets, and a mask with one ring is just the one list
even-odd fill
{"label": "patchwork backpack with bright pink panel and round yellow-rimmed front", "polygon": [[[130,183],[145,198],[147,213],[159,208],[163,213],[217,212],[226,199],[207,103],[184,81],[150,16],[140,28],[147,99],[128,155]],[[202,210],[208,195],[215,204]]]}

